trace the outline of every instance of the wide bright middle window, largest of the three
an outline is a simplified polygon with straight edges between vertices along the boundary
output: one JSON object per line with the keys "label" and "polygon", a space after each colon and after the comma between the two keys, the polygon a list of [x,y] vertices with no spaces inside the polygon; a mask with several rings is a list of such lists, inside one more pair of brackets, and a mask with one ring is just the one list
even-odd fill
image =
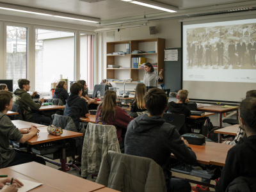
{"label": "wide bright middle window, largest of the three", "polygon": [[74,33],[36,29],[35,90],[49,92],[51,83],[74,81]]}

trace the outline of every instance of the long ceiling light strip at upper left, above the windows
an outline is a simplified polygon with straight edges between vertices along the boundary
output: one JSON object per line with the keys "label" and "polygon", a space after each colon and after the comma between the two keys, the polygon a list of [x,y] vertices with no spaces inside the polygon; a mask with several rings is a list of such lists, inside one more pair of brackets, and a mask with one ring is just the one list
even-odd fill
{"label": "long ceiling light strip at upper left, above the windows", "polygon": [[31,13],[36,15],[59,17],[63,19],[81,20],[84,22],[94,22],[94,23],[100,22],[100,19],[98,18],[86,17],[82,15],[70,15],[68,13],[52,12],[50,10],[40,10],[40,9],[29,8],[25,6],[15,6],[13,4],[8,4],[7,6],[3,3],[0,3],[0,9],[14,11],[14,12]]}

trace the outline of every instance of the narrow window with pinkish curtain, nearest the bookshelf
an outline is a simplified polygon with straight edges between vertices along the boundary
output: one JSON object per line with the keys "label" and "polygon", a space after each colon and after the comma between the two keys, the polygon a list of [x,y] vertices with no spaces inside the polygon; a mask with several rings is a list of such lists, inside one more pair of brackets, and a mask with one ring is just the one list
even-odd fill
{"label": "narrow window with pinkish curtain, nearest the bookshelf", "polygon": [[80,34],[80,79],[93,90],[94,35]]}

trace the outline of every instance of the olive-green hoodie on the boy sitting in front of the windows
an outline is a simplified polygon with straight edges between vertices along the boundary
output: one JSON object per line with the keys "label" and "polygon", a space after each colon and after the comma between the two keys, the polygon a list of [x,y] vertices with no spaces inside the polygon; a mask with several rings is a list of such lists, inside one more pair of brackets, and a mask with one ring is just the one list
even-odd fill
{"label": "olive-green hoodie on the boy sitting in front of the windows", "polygon": [[15,90],[13,102],[14,104],[17,104],[20,107],[24,108],[25,110],[24,115],[26,120],[29,120],[33,116],[31,109],[38,110],[42,106],[42,102],[40,100],[37,103],[35,103],[31,95],[29,95],[28,92],[22,89]]}

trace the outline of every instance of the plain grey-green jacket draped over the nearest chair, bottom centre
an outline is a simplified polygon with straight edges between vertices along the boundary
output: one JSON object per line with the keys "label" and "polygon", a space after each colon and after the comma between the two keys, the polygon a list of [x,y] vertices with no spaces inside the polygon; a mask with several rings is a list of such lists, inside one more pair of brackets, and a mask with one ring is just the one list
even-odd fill
{"label": "plain grey-green jacket draped over the nearest chair, bottom centre", "polygon": [[96,182],[118,191],[166,191],[163,169],[154,160],[113,151],[102,159]]}

